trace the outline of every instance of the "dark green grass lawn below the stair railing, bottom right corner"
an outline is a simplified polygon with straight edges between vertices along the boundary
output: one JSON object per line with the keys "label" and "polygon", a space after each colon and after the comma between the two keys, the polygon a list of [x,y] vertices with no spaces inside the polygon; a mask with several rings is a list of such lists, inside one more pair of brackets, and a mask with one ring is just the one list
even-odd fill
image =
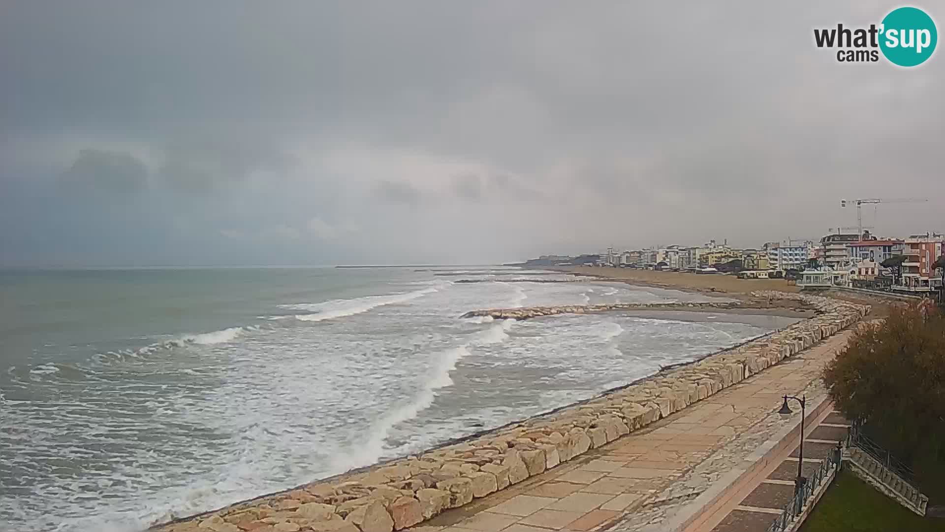
{"label": "dark green grass lawn below the stair railing, bottom right corner", "polygon": [[800,532],[942,532],[945,520],[926,519],[841,470]]}

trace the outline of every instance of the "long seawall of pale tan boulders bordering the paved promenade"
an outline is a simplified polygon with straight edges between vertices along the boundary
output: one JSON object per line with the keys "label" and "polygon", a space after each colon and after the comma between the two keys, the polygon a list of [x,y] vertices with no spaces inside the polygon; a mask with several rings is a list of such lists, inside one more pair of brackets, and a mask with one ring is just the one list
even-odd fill
{"label": "long seawall of pale tan boulders bordering the paved promenade", "polygon": [[152,530],[401,530],[640,430],[813,346],[869,311],[866,305],[807,294],[755,295],[798,300],[819,312],[756,341],[552,414]]}

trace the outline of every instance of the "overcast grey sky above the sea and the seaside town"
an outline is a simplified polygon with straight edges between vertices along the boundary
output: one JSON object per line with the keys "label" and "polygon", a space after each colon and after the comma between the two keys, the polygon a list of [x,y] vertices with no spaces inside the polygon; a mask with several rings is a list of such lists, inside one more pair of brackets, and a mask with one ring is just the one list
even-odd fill
{"label": "overcast grey sky above the sea and the seaside town", "polygon": [[713,4],[4,2],[0,265],[760,246],[841,198],[945,229],[942,51],[814,45],[898,4]]}

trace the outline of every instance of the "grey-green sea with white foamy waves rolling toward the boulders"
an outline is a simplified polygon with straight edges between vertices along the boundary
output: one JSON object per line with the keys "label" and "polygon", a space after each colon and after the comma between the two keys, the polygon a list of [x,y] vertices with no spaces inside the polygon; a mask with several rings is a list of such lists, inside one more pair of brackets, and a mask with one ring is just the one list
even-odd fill
{"label": "grey-green sea with white foamy waves rolling toward the boulders", "polygon": [[0,530],[142,530],[589,399],[792,321],[460,317],[717,299],[505,267],[0,272]]}

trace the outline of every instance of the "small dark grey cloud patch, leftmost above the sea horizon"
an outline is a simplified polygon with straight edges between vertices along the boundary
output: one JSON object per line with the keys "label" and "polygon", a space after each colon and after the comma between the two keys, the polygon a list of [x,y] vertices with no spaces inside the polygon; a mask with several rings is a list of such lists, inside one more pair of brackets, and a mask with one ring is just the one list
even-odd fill
{"label": "small dark grey cloud patch, leftmost above the sea horizon", "polygon": [[66,186],[128,194],[147,186],[147,168],[130,153],[85,149],[63,174]]}

